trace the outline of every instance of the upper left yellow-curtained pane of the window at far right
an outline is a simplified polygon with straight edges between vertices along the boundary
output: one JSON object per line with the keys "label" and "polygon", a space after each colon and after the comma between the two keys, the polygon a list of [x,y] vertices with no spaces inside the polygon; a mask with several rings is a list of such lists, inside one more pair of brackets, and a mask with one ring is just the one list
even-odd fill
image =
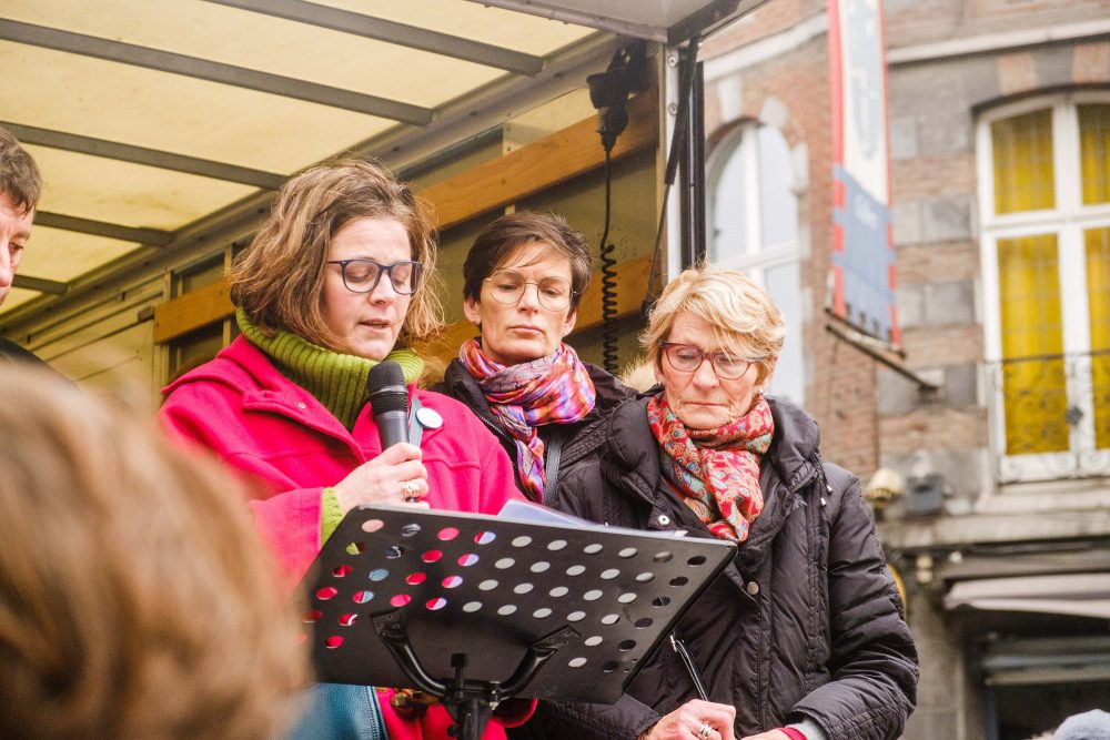
{"label": "upper left yellow-curtained pane of the window at far right", "polygon": [[1056,205],[1052,110],[990,124],[995,163],[995,213],[1038,211]]}

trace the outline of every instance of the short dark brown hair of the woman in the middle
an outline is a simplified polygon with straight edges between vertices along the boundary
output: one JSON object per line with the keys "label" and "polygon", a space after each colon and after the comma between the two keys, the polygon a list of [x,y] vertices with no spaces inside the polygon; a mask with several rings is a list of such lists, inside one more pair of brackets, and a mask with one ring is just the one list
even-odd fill
{"label": "short dark brown hair of the woman in the middle", "polygon": [[482,281],[504,267],[521,246],[544,242],[571,261],[571,311],[578,307],[594,272],[586,239],[557,213],[521,211],[501,216],[474,239],[463,263],[463,297],[477,301]]}

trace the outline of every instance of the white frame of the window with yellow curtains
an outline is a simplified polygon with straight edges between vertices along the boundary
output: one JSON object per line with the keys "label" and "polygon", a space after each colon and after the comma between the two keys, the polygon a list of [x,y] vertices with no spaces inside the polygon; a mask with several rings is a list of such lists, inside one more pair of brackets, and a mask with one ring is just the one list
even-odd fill
{"label": "white frame of the window with yellow curtains", "polygon": [[[1069,403],[1078,406],[1082,412],[1082,419],[1078,427],[1071,427],[1069,432],[1068,452],[1036,455],[1006,454],[1002,384],[1000,379],[990,377],[991,371],[989,369],[990,367],[1000,367],[1002,359],[998,285],[998,242],[1002,239],[1047,233],[1057,235],[1066,362],[1069,356],[1090,353],[1083,231],[1110,226],[1110,204],[1082,205],[1081,202],[1077,107],[1082,103],[1110,103],[1110,92],[1077,91],[1023,100],[992,109],[985,113],[977,123],[982,315],[988,367],[985,389],[989,399],[990,439],[995,457],[999,462],[998,476],[1001,484],[1104,475],[1110,469],[1110,450],[1098,450],[1093,447],[1093,399],[1089,391],[1086,394],[1081,392],[1082,383],[1070,372],[1073,366],[1068,366],[1068,398]],[[996,215],[990,124],[995,121],[1046,108],[1052,111],[1056,206],[1041,211]]]}

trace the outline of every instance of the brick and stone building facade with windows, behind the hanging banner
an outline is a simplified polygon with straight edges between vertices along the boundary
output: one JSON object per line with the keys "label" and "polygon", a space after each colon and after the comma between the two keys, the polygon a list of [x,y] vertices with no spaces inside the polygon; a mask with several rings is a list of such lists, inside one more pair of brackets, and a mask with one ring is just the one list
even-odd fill
{"label": "brick and stone building facade with windows, behind the hanging banner", "polygon": [[[823,0],[774,0],[703,47],[708,252],[794,302],[785,392],[823,454],[904,481],[876,499],[921,651],[904,737],[1028,738],[1110,696],[1110,3],[884,14],[902,355],[828,331]],[[797,229],[764,237],[736,210]],[[795,281],[769,277],[784,264]]]}

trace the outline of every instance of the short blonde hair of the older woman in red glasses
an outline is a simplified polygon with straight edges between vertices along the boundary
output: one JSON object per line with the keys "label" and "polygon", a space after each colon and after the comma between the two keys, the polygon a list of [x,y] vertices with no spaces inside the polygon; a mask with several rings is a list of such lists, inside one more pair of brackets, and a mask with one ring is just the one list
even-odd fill
{"label": "short blonde hair of the older woman in red glasses", "polygon": [[763,382],[783,349],[786,323],[767,292],[738,270],[708,263],[683,271],[659,295],[640,342],[653,367],[659,367],[659,343],[670,335],[679,314],[696,316],[714,327],[720,346],[757,361]]}

